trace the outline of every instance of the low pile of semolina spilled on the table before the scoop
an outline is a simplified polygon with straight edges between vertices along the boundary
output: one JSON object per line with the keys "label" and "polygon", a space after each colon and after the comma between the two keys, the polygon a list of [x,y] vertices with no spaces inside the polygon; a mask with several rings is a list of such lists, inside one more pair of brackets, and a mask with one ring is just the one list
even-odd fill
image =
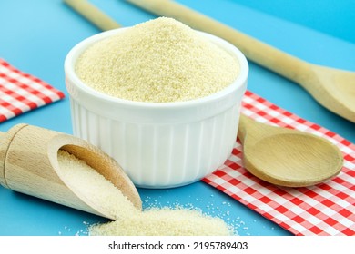
{"label": "low pile of semolina spilled on the table before the scoop", "polygon": [[138,216],[91,226],[90,235],[119,236],[228,236],[233,231],[221,219],[200,210],[152,208]]}

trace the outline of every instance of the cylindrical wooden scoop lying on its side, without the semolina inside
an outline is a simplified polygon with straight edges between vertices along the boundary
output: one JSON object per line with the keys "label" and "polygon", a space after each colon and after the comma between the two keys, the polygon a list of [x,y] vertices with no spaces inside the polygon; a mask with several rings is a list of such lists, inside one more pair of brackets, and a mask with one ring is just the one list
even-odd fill
{"label": "cylindrical wooden scoop lying on its side, without the semolina inside", "polygon": [[0,139],[0,184],[5,188],[115,220],[85,190],[73,190],[66,184],[57,160],[58,151],[64,150],[86,161],[142,209],[136,187],[117,162],[84,140],[26,124],[0,132]]}

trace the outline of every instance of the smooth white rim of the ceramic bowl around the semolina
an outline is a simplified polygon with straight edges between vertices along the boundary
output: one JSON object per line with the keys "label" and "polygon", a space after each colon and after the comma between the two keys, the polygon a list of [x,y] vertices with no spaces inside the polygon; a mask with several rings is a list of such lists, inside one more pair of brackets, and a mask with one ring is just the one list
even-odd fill
{"label": "smooth white rim of the ceramic bowl around the semolina", "polygon": [[[119,97],[115,97],[106,93],[102,93],[97,91],[96,89],[86,85],[81,79],[76,75],[75,72],[75,64],[77,58],[82,54],[88,46],[94,44],[100,40],[106,39],[107,37],[123,33],[129,27],[120,27],[117,29],[112,29],[109,31],[101,32],[99,34],[92,35],[87,37],[83,41],[76,44],[66,55],[64,69],[66,74],[66,79],[71,80],[71,83],[76,86],[82,93],[88,94],[90,97],[94,97],[99,100],[104,100],[107,103],[119,103],[121,105],[125,105],[127,107],[144,107],[144,108],[176,108],[176,107],[190,107],[193,105],[210,103],[211,101],[218,101],[221,100],[223,97],[227,96],[230,93],[235,92],[236,90],[243,87],[243,85],[248,80],[249,75],[249,64],[246,56],[233,44],[228,43],[228,41],[213,35],[208,34],[206,32],[197,31],[199,34],[206,36],[210,41],[218,46],[221,46],[223,49],[227,50],[229,54],[233,54],[233,56],[237,57],[238,64],[239,64],[239,73],[237,79],[230,83],[224,89],[218,91],[217,93],[212,93],[208,96],[188,100],[188,101],[178,101],[178,102],[167,102],[167,103],[154,103],[154,102],[139,102],[139,101],[131,101],[127,99],[122,99]],[[68,90],[69,94],[70,91]]]}

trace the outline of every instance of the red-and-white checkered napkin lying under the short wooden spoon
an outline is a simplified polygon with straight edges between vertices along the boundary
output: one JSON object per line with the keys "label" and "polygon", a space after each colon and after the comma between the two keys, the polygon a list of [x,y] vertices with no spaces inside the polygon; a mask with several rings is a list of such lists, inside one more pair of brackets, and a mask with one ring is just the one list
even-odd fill
{"label": "red-and-white checkered napkin lying under the short wooden spoon", "polygon": [[355,145],[254,93],[244,96],[242,112],[259,122],[327,138],[343,152],[342,171],[330,181],[312,187],[277,187],[243,168],[243,151],[237,141],[228,161],[203,181],[295,235],[355,235]]}

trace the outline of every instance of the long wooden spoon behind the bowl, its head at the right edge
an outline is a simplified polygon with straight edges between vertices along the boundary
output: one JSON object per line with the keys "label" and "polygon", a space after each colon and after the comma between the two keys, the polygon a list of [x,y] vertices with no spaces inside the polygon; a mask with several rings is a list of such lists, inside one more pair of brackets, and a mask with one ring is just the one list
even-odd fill
{"label": "long wooden spoon behind the bowl, its head at the right edge", "polygon": [[299,83],[321,105],[355,122],[355,73],[309,64],[247,34],[169,0],[127,0],[156,15],[173,17],[234,44],[249,60]]}

